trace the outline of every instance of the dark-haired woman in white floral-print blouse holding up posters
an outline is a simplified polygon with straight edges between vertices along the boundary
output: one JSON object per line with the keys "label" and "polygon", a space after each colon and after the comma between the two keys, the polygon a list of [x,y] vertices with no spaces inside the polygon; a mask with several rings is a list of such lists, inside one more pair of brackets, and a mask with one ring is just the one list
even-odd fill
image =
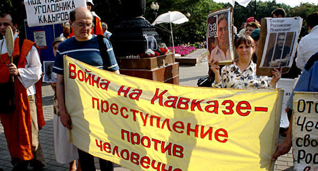
{"label": "dark-haired woman in white floral-print blouse holding up posters", "polygon": [[211,61],[211,70],[215,73],[213,88],[231,89],[274,89],[281,77],[282,68],[272,70],[274,75],[270,82],[267,76],[256,75],[256,64],[252,56],[255,51],[255,42],[250,36],[242,36],[235,42],[236,52],[239,55],[234,64],[224,66],[221,71],[218,61]]}

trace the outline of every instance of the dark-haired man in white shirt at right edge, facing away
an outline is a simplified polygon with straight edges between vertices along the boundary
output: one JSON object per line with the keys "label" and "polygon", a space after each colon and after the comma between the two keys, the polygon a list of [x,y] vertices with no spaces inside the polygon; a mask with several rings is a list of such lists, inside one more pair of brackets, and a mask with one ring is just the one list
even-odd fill
{"label": "dark-haired man in white shirt at right edge, facing away", "polygon": [[318,12],[313,12],[306,17],[309,34],[301,39],[297,47],[296,65],[303,69],[306,62],[318,49]]}

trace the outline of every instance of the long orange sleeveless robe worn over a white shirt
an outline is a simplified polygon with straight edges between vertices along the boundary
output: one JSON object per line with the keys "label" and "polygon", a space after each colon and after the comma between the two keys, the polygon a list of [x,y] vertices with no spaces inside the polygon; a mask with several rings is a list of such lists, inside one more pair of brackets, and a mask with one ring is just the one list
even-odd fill
{"label": "long orange sleeveless robe worn over a white shirt", "polygon": [[[26,63],[25,56],[35,46],[40,54],[39,47],[30,40],[24,40],[21,53],[19,50],[19,38],[14,41],[13,58],[18,58],[17,68],[24,68]],[[8,53],[1,55],[5,62],[8,59]],[[9,61],[6,63],[9,64]],[[9,69],[6,64],[0,64],[0,82],[9,80]],[[31,160],[33,156],[32,148],[32,128],[29,98],[26,89],[19,79],[14,79],[16,109],[13,113],[0,113],[1,123],[4,127],[7,139],[8,149],[11,157],[20,158],[21,160]],[[42,109],[42,89],[41,79],[35,83],[36,88],[36,106],[39,129],[45,125]],[[2,90],[4,91],[4,90]]]}

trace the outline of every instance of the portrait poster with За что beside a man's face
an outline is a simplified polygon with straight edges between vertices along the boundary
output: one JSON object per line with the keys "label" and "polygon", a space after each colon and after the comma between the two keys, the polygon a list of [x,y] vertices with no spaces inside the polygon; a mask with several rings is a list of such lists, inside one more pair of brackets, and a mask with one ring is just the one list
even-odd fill
{"label": "portrait poster with \u0417\u0430 \u0447\u0442\u043e beside a man's face", "polygon": [[234,62],[233,9],[211,11],[207,16],[207,59],[217,60],[218,65]]}

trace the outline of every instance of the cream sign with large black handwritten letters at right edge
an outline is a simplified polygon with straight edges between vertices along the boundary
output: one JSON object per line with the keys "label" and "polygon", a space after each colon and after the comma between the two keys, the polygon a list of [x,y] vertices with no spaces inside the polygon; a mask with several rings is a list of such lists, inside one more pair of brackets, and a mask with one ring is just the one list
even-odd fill
{"label": "cream sign with large black handwritten letters at right edge", "polygon": [[318,169],[318,93],[294,92],[294,170]]}

